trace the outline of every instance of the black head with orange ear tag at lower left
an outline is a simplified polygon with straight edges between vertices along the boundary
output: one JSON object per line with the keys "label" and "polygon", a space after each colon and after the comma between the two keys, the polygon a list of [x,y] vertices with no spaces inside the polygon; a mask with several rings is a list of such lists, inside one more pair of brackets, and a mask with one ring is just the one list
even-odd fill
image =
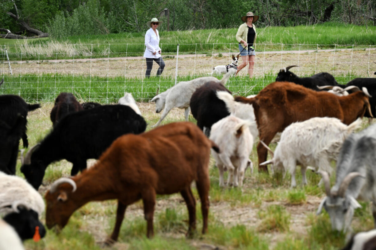
{"label": "black head with orange ear tag at lower left", "polygon": [[43,238],[46,230],[39,221],[38,213],[21,205],[17,209],[19,212],[9,213],[3,220],[14,228],[22,240],[32,239],[34,236],[35,240]]}

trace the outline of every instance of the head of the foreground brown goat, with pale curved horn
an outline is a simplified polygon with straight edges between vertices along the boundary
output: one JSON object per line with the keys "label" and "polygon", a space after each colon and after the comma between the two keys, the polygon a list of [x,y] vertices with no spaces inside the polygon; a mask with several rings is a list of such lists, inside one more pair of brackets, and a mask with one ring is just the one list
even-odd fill
{"label": "head of the foreground brown goat, with pale curved horn", "polygon": [[51,185],[50,190],[45,194],[46,225],[49,229],[55,225],[63,228],[68,223],[69,217],[79,207],[77,202],[71,199],[76,189],[76,182],[70,178],[60,178]]}

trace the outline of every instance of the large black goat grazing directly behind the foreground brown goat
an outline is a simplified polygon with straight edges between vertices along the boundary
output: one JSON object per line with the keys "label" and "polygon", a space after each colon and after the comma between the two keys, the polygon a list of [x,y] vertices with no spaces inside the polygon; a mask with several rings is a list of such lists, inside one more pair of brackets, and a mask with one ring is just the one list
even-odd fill
{"label": "large black goat grazing directly behind the foreground brown goat", "polygon": [[139,134],[145,129],[144,118],[125,105],[103,105],[67,114],[21,159],[21,172],[38,190],[45,169],[53,161],[70,161],[71,175],[76,175],[86,169],[87,159],[98,159],[117,137]]}

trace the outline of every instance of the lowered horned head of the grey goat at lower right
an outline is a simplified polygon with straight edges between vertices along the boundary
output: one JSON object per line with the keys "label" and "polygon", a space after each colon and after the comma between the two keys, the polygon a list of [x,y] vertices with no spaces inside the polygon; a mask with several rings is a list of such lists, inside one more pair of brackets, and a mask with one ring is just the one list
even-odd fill
{"label": "lowered horned head of the grey goat at lower right", "polygon": [[351,172],[343,179],[338,189],[335,187],[331,189],[328,173],[325,171],[318,171],[318,173],[323,177],[326,197],[318,206],[317,214],[320,214],[324,208],[331,219],[332,229],[346,232],[350,229],[354,210],[361,208],[354,197],[346,195],[346,190],[352,179],[361,174]]}

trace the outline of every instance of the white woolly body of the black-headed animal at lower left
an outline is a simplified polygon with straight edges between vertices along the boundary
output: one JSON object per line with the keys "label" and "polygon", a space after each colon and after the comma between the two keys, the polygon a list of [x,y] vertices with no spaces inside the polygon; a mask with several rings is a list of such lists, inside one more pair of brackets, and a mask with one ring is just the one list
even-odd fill
{"label": "white woolly body of the black-headed animal at lower left", "polygon": [[0,172],[0,214],[18,212],[17,205],[22,204],[33,209],[39,217],[44,211],[42,196],[25,179]]}

